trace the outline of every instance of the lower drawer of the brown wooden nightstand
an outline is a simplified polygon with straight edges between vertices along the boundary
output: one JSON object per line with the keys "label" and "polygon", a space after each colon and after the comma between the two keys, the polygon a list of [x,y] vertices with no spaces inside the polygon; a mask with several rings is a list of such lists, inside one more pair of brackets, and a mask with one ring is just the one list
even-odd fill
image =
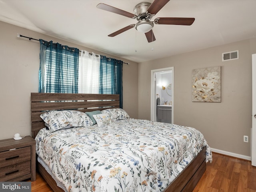
{"label": "lower drawer of the brown wooden nightstand", "polygon": [[0,181],[8,181],[26,174],[30,174],[30,161],[0,168]]}

